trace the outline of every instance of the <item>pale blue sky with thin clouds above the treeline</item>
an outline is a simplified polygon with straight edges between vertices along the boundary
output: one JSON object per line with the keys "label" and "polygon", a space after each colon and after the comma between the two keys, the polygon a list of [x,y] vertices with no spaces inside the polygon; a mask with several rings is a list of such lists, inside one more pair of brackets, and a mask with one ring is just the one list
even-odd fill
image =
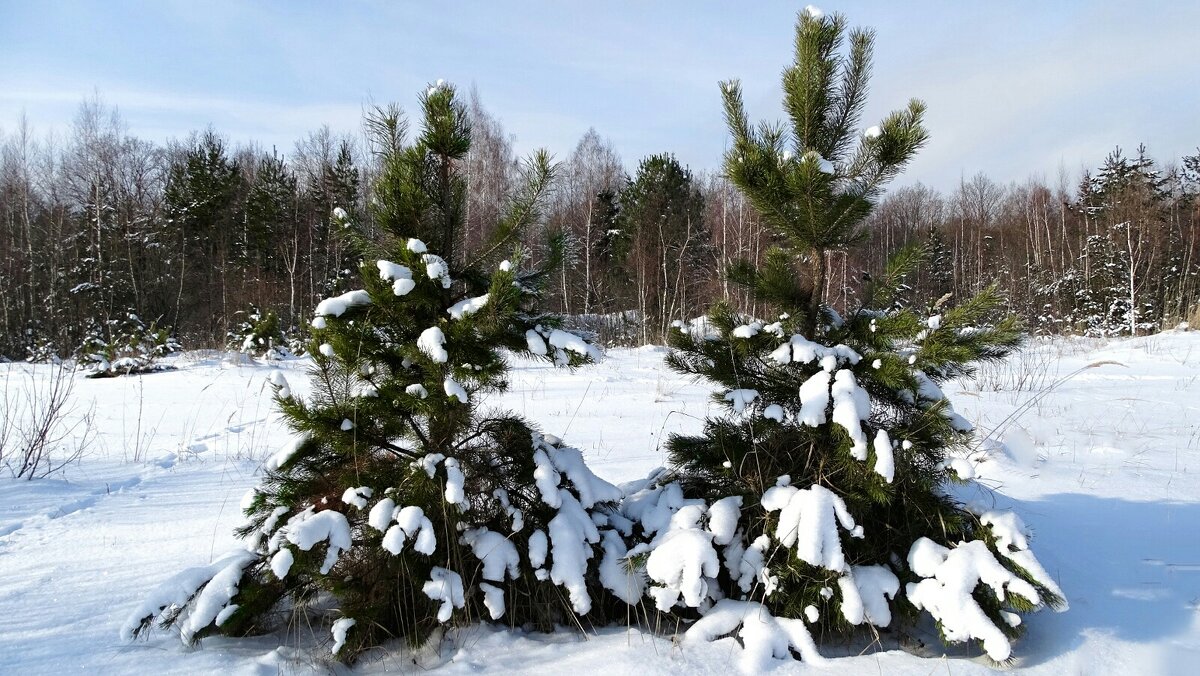
{"label": "pale blue sky with thin clouds above the treeline", "polygon": [[[874,26],[864,122],[908,97],[932,139],[905,183],[952,189],[984,172],[1056,180],[1115,145],[1176,160],[1200,145],[1200,2],[817,2]],[[0,130],[24,110],[65,132],[98,91],[130,132],[163,140],[209,124],[289,151],[362,107],[438,78],[480,96],[517,149],[559,157],[588,127],[628,167],[672,151],[715,169],[718,80],[739,78],[778,119],[779,73],[803,2],[131,2],[0,0]]]}

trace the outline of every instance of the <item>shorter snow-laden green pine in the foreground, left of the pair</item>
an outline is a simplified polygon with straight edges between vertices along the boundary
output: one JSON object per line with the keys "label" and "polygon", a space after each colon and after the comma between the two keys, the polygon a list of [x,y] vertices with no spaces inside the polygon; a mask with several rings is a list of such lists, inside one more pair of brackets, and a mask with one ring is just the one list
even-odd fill
{"label": "shorter snow-laden green pine in the foreground, left of the pair", "polygon": [[541,312],[550,270],[523,270],[514,253],[539,222],[548,156],[524,164],[491,237],[467,250],[466,112],[440,82],[421,106],[413,142],[396,109],[368,119],[380,166],[362,288],[317,307],[308,400],[272,377],[296,441],[247,496],[246,549],[166,582],[126,635],[161,623],[191,642],[324,610],[332,653],[352,659],[461,622],[574,624],[599,614],[601,585],[628,586],[613,558],[625,550],[612,536],[601,545],[594,514],[620,491],[578,450],[482,408],[505,387],[502,351],[564,366],[598,355]]}

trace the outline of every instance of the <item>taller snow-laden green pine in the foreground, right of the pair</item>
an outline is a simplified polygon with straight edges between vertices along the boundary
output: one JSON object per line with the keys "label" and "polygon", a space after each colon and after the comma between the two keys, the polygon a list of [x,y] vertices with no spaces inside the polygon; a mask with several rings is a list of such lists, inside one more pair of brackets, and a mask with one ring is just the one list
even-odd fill
{"label": "taller snow-laden green pine in the foreground, right of the pair", "polygon": [[739,635],[751,670],[790,646],[818,659],[814,635],[910,627],[919,610],[947,641],[979,640],[1006,660],[1019,612],[1063,604],[1018,518],[973,512],[950,490],[973,475],[972,435],[938,383],[1019,343],[1015,321],[994,313],[998,295],[929,317],[896,309],[922,257],[907,249],[862,307],[840,317],[823,304],[828,252],[868,235],[883,185],[926,139],[919,101],[859,128],[872,42],[839,14],[802,12],[786,126],[751,126],[739,84],[722,84],[726,174],[775,238],[762,267],[728,274],[779,318],[718,305],[674,331],[668,357],[718,384],[727,413],[673,437],[673,473],[647,489],[682,489],[655,498],[674,513],[643,548],[649,593],[702,615],[685,640]]}

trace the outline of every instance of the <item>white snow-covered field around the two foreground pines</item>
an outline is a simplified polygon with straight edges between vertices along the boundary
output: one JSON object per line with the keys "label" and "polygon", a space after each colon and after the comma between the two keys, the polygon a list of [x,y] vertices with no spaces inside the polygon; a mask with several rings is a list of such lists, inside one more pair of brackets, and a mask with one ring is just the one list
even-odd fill
{"label": "white snow-covered field around the two foreground pines", "polygon": [[[662,354],[613,351],[575,373],[518,364],[511,391],[491,403],[578,445],[605,478],[634,479],[662,461],[661,438],[698,429],[709,406],[704,388],[664,369]],[[438,653],[379,651],[354,670],[296,651],[311,641],[302,628],[208,639],[198,650],[168,634],[122,644],[120,626],[146,590],[236,546],[239,499],[287,435],[265,385],[269,367],[196,353],[175,365],[144,377],[78,379],[74,415],[92,411],[97,432],[85,456],[47,479],[0,478],[0,674],[734,671],[731,640],[683,648],[625,628],[582,638],[480,627]],[[302,389],[305,363],[283,367]],[[0,364],[10,395],[49,372]],[[1195,674],[1200,333],[1037,343],[948,394],[960,413],[994,430],[973,459],[995,490],[966,497],[1020,513],[1070,600],[1068,612],[1028,618],[1016,671]],[[1010,418],[1014,411],[1024,413]],[[820,670],[992,671],[974,653],[926,647],[922,654],[875,646]],[[776,672],[811,669],[797,663]]]}

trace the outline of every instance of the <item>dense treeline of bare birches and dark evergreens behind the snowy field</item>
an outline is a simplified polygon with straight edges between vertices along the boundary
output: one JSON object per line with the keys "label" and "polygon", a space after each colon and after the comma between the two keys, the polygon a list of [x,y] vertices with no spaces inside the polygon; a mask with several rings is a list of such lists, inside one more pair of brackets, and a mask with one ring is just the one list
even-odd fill
{"label": "dense treeline of bare birches and dark evergreens behind the snowy field", "polygon": [[[527,167],[478,96],[468,109],[472,246]],[[77,355],[130,315],[170,327],[188,348],[239,341],[230,334],[256,311],[299,337],[322,298],[355,283],[359,252],[343,225],[370,231],[365,205],[384,150],[329,127],[288,154],[234,146],[214,130],[156,144],[127,133],[98,98],[64,136],[38,136],[25,119],[0,130],[0,357]],[[631,175],[625,167],[588,131],[559,157],[542,227],[524,247],[536,258],[564,245],[550,306],[580,328],[612,343],[662,342],[672,322],[742,293],[721,271],[761,263],[772,241],[722,175],[694,173],[670,152],[640,160]],[[868,232],[853,253],[828,255],[834,306],[856,305],[864,279],[913,245],[926,258],[904,303],[998,285],[1037,333],[1200,321],[1200,150],[1164,166],[1144,148],[1114,149],[1052,184],[977,174],[944,192],[910,185],[883,198]]]}

